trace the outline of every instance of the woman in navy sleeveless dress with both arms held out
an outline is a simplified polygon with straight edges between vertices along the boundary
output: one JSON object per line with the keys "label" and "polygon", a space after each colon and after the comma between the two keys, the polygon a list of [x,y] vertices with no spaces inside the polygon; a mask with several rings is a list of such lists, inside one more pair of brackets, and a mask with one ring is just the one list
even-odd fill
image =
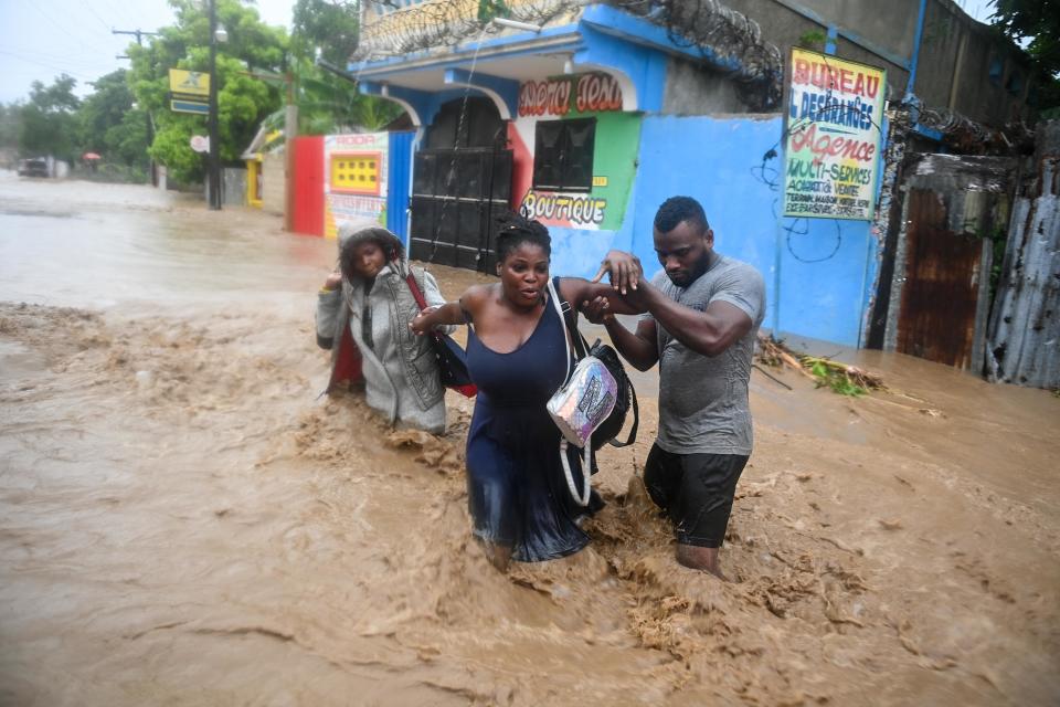
{"label": "woman in navy sleeveless dress with both arms held out", "polygon": [[[545,403],[568,373],[568,329],[549,302],[551,239],[537,221],[506,217],[497,238],[500,282],[477,285],[459,302],[424,309],[416,334],[467,324],[467,367],[478,397],[467,435],[468,505],[474,532],[490,562],[537,562],[581,550],[589,536],[581,520],[603,506],[571,497],[560,460],[560,431]],[[610,285],[574,277],[553,279],[576,310],[596,297],[612,312],[635,314]],[[571,347],[573,351],[573,347]],[[573,368],[573,360],[570,361]],[[568,453],[574,483],[583,487],[577,450]]]}

